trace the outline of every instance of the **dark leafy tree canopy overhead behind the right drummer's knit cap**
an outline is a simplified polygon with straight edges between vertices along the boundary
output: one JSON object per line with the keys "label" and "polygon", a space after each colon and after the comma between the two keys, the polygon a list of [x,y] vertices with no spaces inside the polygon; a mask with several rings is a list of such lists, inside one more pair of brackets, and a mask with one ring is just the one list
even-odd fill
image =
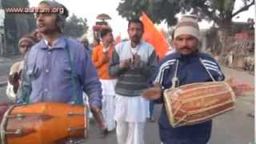
{"label": "dark leafy tree canopy overhead behind the right drummer's knit cap", "polygon": [[150,16],[153,22],[166,21],[174,26],[179,12],[197,14],[199,18],[213,20],[218,26],[230,26],[232,18],[254,5],[255,0],[242,1],[243,6],[234,11],[235,0],[122,0],[118,13],[124,18],[139,17],[142,11]]}

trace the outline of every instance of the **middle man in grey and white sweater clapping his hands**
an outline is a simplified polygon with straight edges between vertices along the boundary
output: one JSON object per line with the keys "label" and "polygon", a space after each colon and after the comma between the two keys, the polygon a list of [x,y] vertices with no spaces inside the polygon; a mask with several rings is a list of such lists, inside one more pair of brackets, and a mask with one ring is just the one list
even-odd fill
{"label": "middle man in grey and white sweater clapping his hands", "polygon": [[141,97],[158,64],[154,47],[142,42],[143,24],[128,23],[130,41],[118,43],[110,60],[110,76],[117,78],[114,119],[118,144],[144,144],[144,127],[149,102]]}

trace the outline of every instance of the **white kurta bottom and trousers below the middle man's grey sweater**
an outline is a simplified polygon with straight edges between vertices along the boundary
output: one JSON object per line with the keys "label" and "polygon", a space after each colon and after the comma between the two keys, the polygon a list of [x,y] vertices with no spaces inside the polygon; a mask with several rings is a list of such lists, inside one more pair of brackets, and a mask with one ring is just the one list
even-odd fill
{"label": "white kurta bottom and trousers below the middle man's grey sweater", "polygon": [[149,101],[141,96],[115,98],[118,144],[144,144],[144,127],[150,115]]}

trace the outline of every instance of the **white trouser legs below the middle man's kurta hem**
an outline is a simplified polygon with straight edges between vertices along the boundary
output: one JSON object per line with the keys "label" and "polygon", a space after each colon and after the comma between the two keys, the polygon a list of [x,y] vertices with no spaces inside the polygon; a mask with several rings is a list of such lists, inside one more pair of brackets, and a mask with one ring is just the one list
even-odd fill
{"label": "white trouser legs below the middle man's kurta hem", "polygon": [[118,144],[144,144],[145,122],[117,121]]}

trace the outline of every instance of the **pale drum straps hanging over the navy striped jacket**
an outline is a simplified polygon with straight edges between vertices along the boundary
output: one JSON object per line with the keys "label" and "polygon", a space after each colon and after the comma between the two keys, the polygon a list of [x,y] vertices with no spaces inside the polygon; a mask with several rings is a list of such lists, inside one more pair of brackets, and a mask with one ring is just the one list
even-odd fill
{"label": "pale drum straps hanging over the navy striped jacket", "polygon": [[[213,75],[210,74],[210,71],[203,64],[202,58],[199,58],[199,60],[200,60],[200,62],[202,64],[202,66],[205,68],[207,74],[210,76],[211,80],[213,82],[216,82],[216,80],[214,79]],[[177,87],[177,86],[179,86],[179,80],[178,80],[178,59],[176,59],[176,67],[175,67],[175,72],[174,72],[174,78],[171,79],[171,84],[172,84],[172,86],[171,86],[172,89]]]}

